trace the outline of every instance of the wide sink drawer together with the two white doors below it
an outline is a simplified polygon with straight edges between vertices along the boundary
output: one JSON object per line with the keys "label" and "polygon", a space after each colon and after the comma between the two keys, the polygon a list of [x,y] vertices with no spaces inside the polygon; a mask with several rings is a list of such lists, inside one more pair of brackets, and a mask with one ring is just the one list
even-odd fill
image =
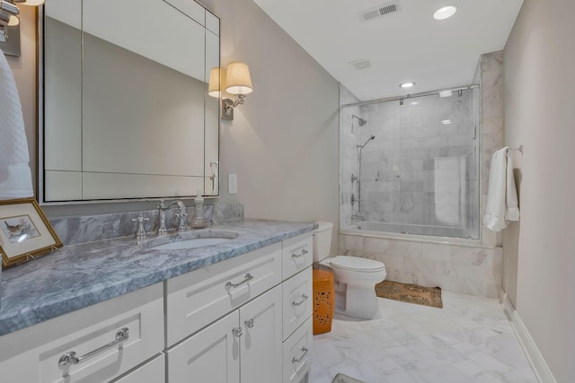
{"label": "wide sink drawer together with the two white doors below it", "polygon": [[281,257],[276,243],[167,281],[167,344],[193,334],[168,348],[168,381],[278,381]]}

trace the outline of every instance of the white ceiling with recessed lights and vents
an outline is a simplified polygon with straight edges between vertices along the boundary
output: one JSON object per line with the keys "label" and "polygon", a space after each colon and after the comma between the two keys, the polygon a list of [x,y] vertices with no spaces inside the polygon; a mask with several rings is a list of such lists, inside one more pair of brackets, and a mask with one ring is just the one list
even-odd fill
{"label": "white ceiling with recessed lights and vents", "polygon": [[[359,13],[390,0],[254,0],[359,100],[473,83],[483,53],[503,49],[523,0],[399,0],[400,11],[369,22]],[[433,13],[455,4],[457,13]],[[349,63],[368,60],[357,70]],[[414,81],[408,91],[399,84]]]}

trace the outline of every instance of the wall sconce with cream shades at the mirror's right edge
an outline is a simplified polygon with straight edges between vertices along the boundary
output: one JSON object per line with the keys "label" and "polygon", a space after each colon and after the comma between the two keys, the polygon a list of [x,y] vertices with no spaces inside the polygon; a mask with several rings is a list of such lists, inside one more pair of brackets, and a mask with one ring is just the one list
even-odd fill
{"label": "wall sconce with cream shades at the mirror's right edge", "polygon": [[233,120],[234,108],[242,105],[245,95],[253,91],[248,65],[234,61],[228,64],[226,69],[212,68],[209,73],[208,95],[219,98],[222,89],[235,96],[235,100],[222,100],[222,118]]}

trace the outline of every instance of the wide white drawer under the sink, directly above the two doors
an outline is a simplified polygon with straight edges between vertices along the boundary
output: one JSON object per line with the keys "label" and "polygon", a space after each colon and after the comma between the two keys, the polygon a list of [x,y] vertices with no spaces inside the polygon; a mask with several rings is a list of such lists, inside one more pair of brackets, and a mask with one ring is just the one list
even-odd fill
{"label": "wide white drawer under the sink, directly above the two doors", "polygon": [[167,345],[197,332],[280,282],[280,243],[168,280]]}

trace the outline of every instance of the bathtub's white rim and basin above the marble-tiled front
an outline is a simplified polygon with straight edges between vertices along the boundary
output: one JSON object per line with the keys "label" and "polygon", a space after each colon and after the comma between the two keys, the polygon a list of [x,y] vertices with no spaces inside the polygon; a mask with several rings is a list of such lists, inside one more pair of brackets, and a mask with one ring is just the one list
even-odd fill
{"label": "bathtub's white rim and basin above the marble-tiled front", "polygon": [[476,242],[479,239],[469,237],[469,229],[448,227],[411,225],[389,222],[356,222],[342,228],[342,234],[366,235],[394,239],[421,239],[438,242]]}

